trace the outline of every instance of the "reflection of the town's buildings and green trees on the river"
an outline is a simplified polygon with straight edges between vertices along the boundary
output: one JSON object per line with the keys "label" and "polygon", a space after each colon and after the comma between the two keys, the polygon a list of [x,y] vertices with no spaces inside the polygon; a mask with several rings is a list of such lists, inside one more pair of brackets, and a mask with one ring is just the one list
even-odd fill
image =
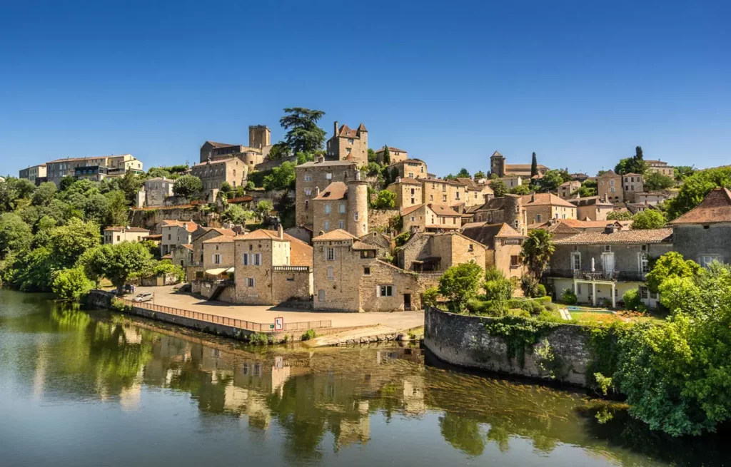
{"label": "reflection of the town's buildings and green trees on the river", "polygon": [[452,460],[722,465],[727,455],[715,438],[669,440],[621,410],[600,425],[594,415],[606,404],[578,393],[425,366],[414,347],[262,351],[27,297],[0,291],[0,389],[118,401],[124,412],[148,410],[145,393],[183,395],[207,415],[207,430],[228,417],[243,422],[252,447],[276,436],[287,463],[327,463],[348,447],[376,462],[383,453],[370,448],[389,425]]}

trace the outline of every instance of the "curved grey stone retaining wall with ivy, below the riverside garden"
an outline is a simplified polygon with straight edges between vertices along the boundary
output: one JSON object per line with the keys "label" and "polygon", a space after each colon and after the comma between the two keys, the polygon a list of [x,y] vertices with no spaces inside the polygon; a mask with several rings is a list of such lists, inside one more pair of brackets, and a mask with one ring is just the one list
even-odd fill
{"label": "curved grey stone retaining wall with ivy, below the riverside garden", "polygon": [[442,312],[429,306],[424,317],[424,344],[436,358],[452,365],[537,379],[550,379],[549,371],[553,370],[557,380],[587,385],[590,350],[588,333],[581,326],[556,324],[546,333],[544,339],[555,356],[553,363],[548,363],[536,352],[543,347],[543,339],[526,346],[529,348],[523,352],[523,358],[511,356],[506,339],[486,330],[485,324],[492,320]]}

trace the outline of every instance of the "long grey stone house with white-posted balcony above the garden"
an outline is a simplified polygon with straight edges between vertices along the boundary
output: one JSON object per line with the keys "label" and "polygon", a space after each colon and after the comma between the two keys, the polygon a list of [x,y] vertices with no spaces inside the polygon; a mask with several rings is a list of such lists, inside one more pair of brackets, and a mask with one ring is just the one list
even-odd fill
{"label": "long grey stone house with white-posted balcony above the garden", "polygon": [[650,258],[673,250],[673,229],[620,231],[607,225],[602,232],[583,232],[553,242],[556,252],[544,277],[554,296],[572,290],[580,303],[616,306],[629,289],[637,289],[651,307],[658,296],[645,286]]}

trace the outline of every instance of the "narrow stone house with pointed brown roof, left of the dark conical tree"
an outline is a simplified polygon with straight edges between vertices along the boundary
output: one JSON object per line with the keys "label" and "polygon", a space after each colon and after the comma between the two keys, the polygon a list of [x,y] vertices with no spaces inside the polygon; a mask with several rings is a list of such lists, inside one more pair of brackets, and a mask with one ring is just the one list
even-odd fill
{"label": "narrow stone house with pointed brown roof, left of the dark conical tree", "polygon": [[526,237],[507,223],[466,224],[462,235],[485,247],[485,269],[498,269],[508,278],[525,274],[526,268],[520,263],[520,251]]}

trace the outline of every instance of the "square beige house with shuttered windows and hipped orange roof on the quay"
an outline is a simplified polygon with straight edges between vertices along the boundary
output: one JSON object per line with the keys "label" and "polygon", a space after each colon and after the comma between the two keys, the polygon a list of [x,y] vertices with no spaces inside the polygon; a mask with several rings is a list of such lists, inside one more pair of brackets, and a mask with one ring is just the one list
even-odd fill
{"label": "square beige house with shuttered windows and hipped orange roof on the quay", "polygon": [[276,305],[312,296],[312,247],[277,231],[235,237],[235,297],[240,304]]}

